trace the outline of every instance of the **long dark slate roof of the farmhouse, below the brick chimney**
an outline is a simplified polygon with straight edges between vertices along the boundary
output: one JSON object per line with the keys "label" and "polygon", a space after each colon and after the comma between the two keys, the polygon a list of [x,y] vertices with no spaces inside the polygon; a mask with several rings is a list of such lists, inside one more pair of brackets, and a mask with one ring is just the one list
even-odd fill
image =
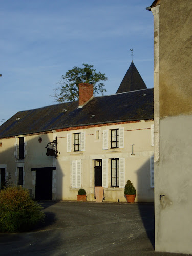
{"label": "long dark slate roof of the farmhouse, below the brick chimney", "polygon": [[19,111],[0,126],[0,138],[82,125],[153,119],[153,116],[153,88],[149,88],[94,97],[83,108],[78,108],[78,101],[72,101]]}

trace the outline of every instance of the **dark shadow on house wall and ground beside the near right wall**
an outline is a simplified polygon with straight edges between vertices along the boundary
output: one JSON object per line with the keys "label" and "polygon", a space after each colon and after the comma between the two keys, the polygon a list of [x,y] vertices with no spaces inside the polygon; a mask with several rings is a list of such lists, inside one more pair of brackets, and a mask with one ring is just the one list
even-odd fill
{"label": "dark shadow on house wall and ground beside the near right wall", "polygon": [[[142,167],[137,170],[137,179],[137,197],[139,201],[138,207],[140,216],[143,222],[143,226],[146,230],[148,239],[150,240],[152,246],[155,249],[154,188],[150,187],[150,159],[148,159],[145,164],[143,164]],[[147,197],[147,193],[150,193],[152,195],[152,200],[150,200],[151,202],[145,202],[145,197]]]}

